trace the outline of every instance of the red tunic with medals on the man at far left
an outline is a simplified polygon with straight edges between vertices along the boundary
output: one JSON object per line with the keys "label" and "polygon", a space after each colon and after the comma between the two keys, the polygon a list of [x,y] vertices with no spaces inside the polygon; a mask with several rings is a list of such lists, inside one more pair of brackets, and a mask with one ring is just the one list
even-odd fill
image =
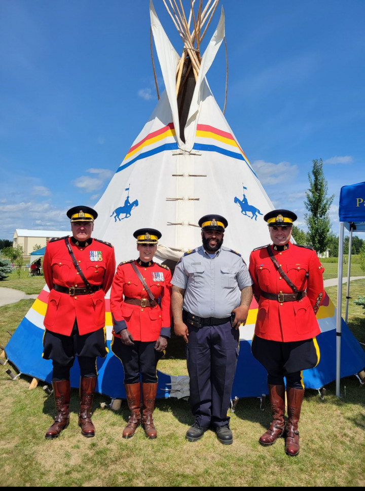
{"label": "red tunic with medals on the man at far left", "polygon": [[49,331],[69,336],[77,319],[79,333],[87,334],[105,326],[104,297],[112,285],[116,268],[114,247],[94,238],[90,238],[85,247],[78,247],[69,238],[72,252],[85,278],[90,285],[102,285],[100,290],[91,295],[71,296],[53,289],[54,284],[67,288],[85,287],[64,239],[51,239],[46,247],[43,270],[50,294],[44,325]]}

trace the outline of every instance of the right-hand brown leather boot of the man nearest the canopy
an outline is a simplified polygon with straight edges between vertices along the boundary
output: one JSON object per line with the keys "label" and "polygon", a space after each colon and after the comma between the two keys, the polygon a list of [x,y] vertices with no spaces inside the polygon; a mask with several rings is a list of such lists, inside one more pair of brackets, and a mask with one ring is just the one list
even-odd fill
{"label": "right-hand brown leather boot of the man nearest the canopy", "polygon": [[298,422],[304,398],[304,389],[286,389],[288,419],[285,429],[285,452],[288,455],[299,453]]}

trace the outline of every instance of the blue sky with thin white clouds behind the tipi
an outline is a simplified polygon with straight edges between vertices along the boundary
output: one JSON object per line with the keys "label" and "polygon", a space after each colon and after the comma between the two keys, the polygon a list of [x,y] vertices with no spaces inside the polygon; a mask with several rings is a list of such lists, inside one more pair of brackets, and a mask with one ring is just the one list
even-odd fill
{"label": "blue sky with thin white clouds behind the tipi", "polygon": [[[304,230],[308,172],[322,158],[338,234],[341,187],[365,181],[365,2],[219,5],[229,125],[274,205]],[[66,210],[97,202],[157,103],[149,1],[0,0],[0,72],[0,238],[69,230]],[[207,79],[223,109],[224,45]]]}

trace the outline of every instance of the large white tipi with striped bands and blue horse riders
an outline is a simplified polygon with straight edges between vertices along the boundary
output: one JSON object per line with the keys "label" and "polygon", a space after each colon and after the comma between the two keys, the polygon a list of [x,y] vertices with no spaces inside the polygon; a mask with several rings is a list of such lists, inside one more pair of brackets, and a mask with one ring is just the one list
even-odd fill
{"label": "large white tipi with striped bands and blue horse riders", "polygon": [[[211,11],[201,12],[199,30],[203,29],[204,18],[206,24],[211,21],[217,3],[214,0]],[[274,206],[217,106],[206,79],[225,35],[223,9],[201,58],[199,52],[191,49],[188,31],[184,54],[182,57],[177,54],[152,2],[150,15],[165,91],[96,203],[99,216],[93,235],[113,243],[119,263],[136,258],[132,238],[136,229],[156,228],[162,232],[156,260],[174,265],[182,254],[201,244],[197,225],[200,217],[216,213],[228,220],[224,245],[238,251],[248,262],[254,248],[270,241],[263,216]],[[197,19],[193,20],[197,24]],[[200,33],[194,36],[200,46]],[[51,361],[42,359],[48,293],[45,287],[34,301],[9,340],[6,355],[21,373],[50,382]],[[112,399],[123,399],[122,364],[110,349],[112,318],[108,298],[107,294],[105,324],[109,353],[98,359],[96,390]],[[257,307],[253,300],[247,323],[240,328],[232,399],[267,394],[267,373],[250,352]],[[315,390],[336,378],[336,309],[327,295],[317,318],[321,329],[317,337],[320,362],[303,373],[306,388]],[[344,322],[341,356],[341,377],[357,374],[365,366],[365,353]],[[161,371],[158,377],[158,398],[188,395],[188,377]],[[79,387],[77,363],[71,370],[71,386]]]}

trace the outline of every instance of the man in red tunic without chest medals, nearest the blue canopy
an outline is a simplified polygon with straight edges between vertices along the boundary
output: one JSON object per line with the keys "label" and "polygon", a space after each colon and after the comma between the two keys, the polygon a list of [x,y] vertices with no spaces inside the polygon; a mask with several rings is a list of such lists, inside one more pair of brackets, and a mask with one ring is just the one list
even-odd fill
{"label": "man in red tunic without chest medals, nearest the blue canopy", "polygon": [[273,444],[284,434],[285,385],[288,420],[285,451],[299,453],[298,422],[304,397],[302,371],[319,362],[316,312],[324,296],[323,266],[316,252],[290,242],[295,213],[274,210],[264,216],[272,244],[251,252],[249,272],[258,301],[251,350],[268,371],[273,423],[260,443]]}

